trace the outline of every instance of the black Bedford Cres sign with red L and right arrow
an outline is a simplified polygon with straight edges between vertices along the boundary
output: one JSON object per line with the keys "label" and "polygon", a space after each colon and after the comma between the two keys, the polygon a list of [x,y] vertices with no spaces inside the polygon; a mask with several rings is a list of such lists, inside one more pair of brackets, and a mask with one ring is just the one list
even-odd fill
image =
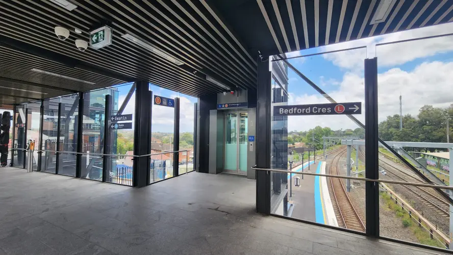
{"label": "black Bedford Cres sign with red L and right arrow", "polygon": [[274,106],[274,116],[362,114],[362,103]]}

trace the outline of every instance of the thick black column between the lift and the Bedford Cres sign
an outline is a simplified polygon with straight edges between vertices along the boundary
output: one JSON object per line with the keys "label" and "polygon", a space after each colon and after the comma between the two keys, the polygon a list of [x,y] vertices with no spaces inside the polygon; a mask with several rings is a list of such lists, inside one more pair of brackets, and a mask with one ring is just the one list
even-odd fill
{"label": "thick black column between the lift and the Bedford Cres sign", "polygon": [[[271,138],[271,72],[269,60],[258,62],[257,86],[257,141],[256,155],[258,168],[270,168]],[[268,171],[257,170],[257,212],[270,214],[270,175]]]}

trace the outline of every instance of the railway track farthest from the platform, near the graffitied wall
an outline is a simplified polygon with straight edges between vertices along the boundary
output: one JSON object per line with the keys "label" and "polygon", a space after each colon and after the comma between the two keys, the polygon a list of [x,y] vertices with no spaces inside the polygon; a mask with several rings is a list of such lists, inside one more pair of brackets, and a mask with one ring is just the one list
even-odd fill
{"label": "railway track farthest from the platform, near the graffitied wall", "polygon": [[[364,159],[365,156],[363,155],[363,152],[361,149],[359,149],[360,156]],[[389,177],[389,179],[394,180],[394,181],[404,181],[407,182],[407,180],[402,177],[397,168],[394,166],[386,163],[384,160],[379,160],[380,164],[379,166],[383,169],[386,170],[387,174],[386,176]],[[403,172],[404,173],[404,172]],[[405,173],[404,173],[405,174]],[[431,192],[427,191],[424,188],[417,187],[417,186],[408,186],[408,185],[401,185],[402,188],[404,188],[407,192],[409,192],[411,195],[413,195],[415,198],[420,200],[422,203],[424,203],[426,206],[430,207],[437,213],[443,215],[444,217],[448,218],[449,217],[449,204],[437,197],[436,195],[432,194]]]}

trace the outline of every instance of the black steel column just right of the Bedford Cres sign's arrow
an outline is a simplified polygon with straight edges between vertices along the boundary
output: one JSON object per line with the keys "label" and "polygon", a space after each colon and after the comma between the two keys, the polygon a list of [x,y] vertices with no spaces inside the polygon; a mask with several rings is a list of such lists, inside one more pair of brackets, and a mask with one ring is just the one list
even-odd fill
{"label": "black steel column just right of the Bedford Cres sign's arrow", "polygon": [[[365,59],[365,177],[379,179],[378,59]],[[365,184],[366,235],[379,237],[379,184]]]}

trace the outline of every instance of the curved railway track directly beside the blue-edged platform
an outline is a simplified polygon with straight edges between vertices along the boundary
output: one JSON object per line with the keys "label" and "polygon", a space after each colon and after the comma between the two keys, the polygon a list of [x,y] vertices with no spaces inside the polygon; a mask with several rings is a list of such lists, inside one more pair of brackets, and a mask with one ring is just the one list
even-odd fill
{"label": "curved railway track directly beside the blue-edged platform", "polygon": [[[346,153],[346,150],[344,147],[341,147],[337,150],[337,152],[338,153],[334,156],[331,164],[329,165],[329,171],[331,174],[340,175],[338,170],[339,161],[341,156]],[[340,214],[340,222],[349,230],[365,231],[365,224],[360,219],[353,203],[349,199],[341,179],[331,177],[330,182],[332,185],[335,203],[337,204],[338,212]]]}

